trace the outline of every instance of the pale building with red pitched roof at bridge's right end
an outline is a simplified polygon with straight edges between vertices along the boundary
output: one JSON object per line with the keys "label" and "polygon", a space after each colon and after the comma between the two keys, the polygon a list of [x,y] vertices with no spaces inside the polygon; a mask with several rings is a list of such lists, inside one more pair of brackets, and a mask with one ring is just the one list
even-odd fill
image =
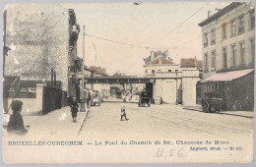
{"label": "pale building with red pitched roof at bridge's right end", "polygon": [[144,69],[146,78],[155,79],[152,87],[146,84],[154,99],[160,96],[165,103],[196,104],[196,83],[200,80],[197,68],[181,68],[168,56],[159,55],[144,65]]}

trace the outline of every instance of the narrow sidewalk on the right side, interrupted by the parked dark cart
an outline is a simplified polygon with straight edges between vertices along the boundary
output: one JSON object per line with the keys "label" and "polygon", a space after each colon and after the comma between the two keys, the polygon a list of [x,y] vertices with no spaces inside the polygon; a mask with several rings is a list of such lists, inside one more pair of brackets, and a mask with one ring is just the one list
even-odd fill
{"label": "narrow sidewalk on the right side, interrupted by the parked dark cart", "polygon": [[[181,106],[181,107],[185,110],[203,112],[201,105]],[[239,117],[245,117],[245,118],[254,118],[254,112],[253,111],[221,111],[220,114],[231,115],[231,116],[239,116]]]}

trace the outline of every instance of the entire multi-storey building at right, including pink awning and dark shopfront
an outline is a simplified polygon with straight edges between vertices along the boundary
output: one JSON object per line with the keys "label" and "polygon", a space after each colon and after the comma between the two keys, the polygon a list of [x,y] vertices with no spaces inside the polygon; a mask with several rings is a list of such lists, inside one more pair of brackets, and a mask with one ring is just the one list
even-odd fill
{"label": "entire multi-storey building at right, including pink awning and dark shopfront", "polygon": [[[231,110],[234,103],[242,106],[250,103],[248,105],[252,109],[255,59],[253,2],[232,2],[199,26],[203,36],[204,91],[224,97],[227,110]],[[245,99],[249,100],[245,102]]]}

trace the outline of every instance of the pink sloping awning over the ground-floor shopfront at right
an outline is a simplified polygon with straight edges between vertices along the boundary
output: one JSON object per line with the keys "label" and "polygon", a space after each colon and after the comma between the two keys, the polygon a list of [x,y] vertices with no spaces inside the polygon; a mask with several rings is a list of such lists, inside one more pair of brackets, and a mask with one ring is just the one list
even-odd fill
{"label": "pink sloping awning over the ground-floor shopfront at right", "polygon": [[236,70],[231,72],[223,72],[223,73],[217,73],[210,78],[207,78],[202,81],[202,83],[207,82],[230,82],[235,79],[239,79],[243,76],[248,75],[249,73],[253,72],[254,69],[246,69],[246,70]]}

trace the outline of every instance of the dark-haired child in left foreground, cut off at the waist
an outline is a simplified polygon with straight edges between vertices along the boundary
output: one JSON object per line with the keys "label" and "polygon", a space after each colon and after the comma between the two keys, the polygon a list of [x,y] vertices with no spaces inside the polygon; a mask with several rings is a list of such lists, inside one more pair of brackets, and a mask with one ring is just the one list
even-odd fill
{"label": "dark-haired child in left foreground, cut off at the waist", "polygon": [[10,121],[7,126],[8,133],[14,133],[17,135],[25,135],[28,133],[28,129],[24,127],[23,117],[21,115],[23,102],[15,100],[12,102],[13,114],[10,117]]}

